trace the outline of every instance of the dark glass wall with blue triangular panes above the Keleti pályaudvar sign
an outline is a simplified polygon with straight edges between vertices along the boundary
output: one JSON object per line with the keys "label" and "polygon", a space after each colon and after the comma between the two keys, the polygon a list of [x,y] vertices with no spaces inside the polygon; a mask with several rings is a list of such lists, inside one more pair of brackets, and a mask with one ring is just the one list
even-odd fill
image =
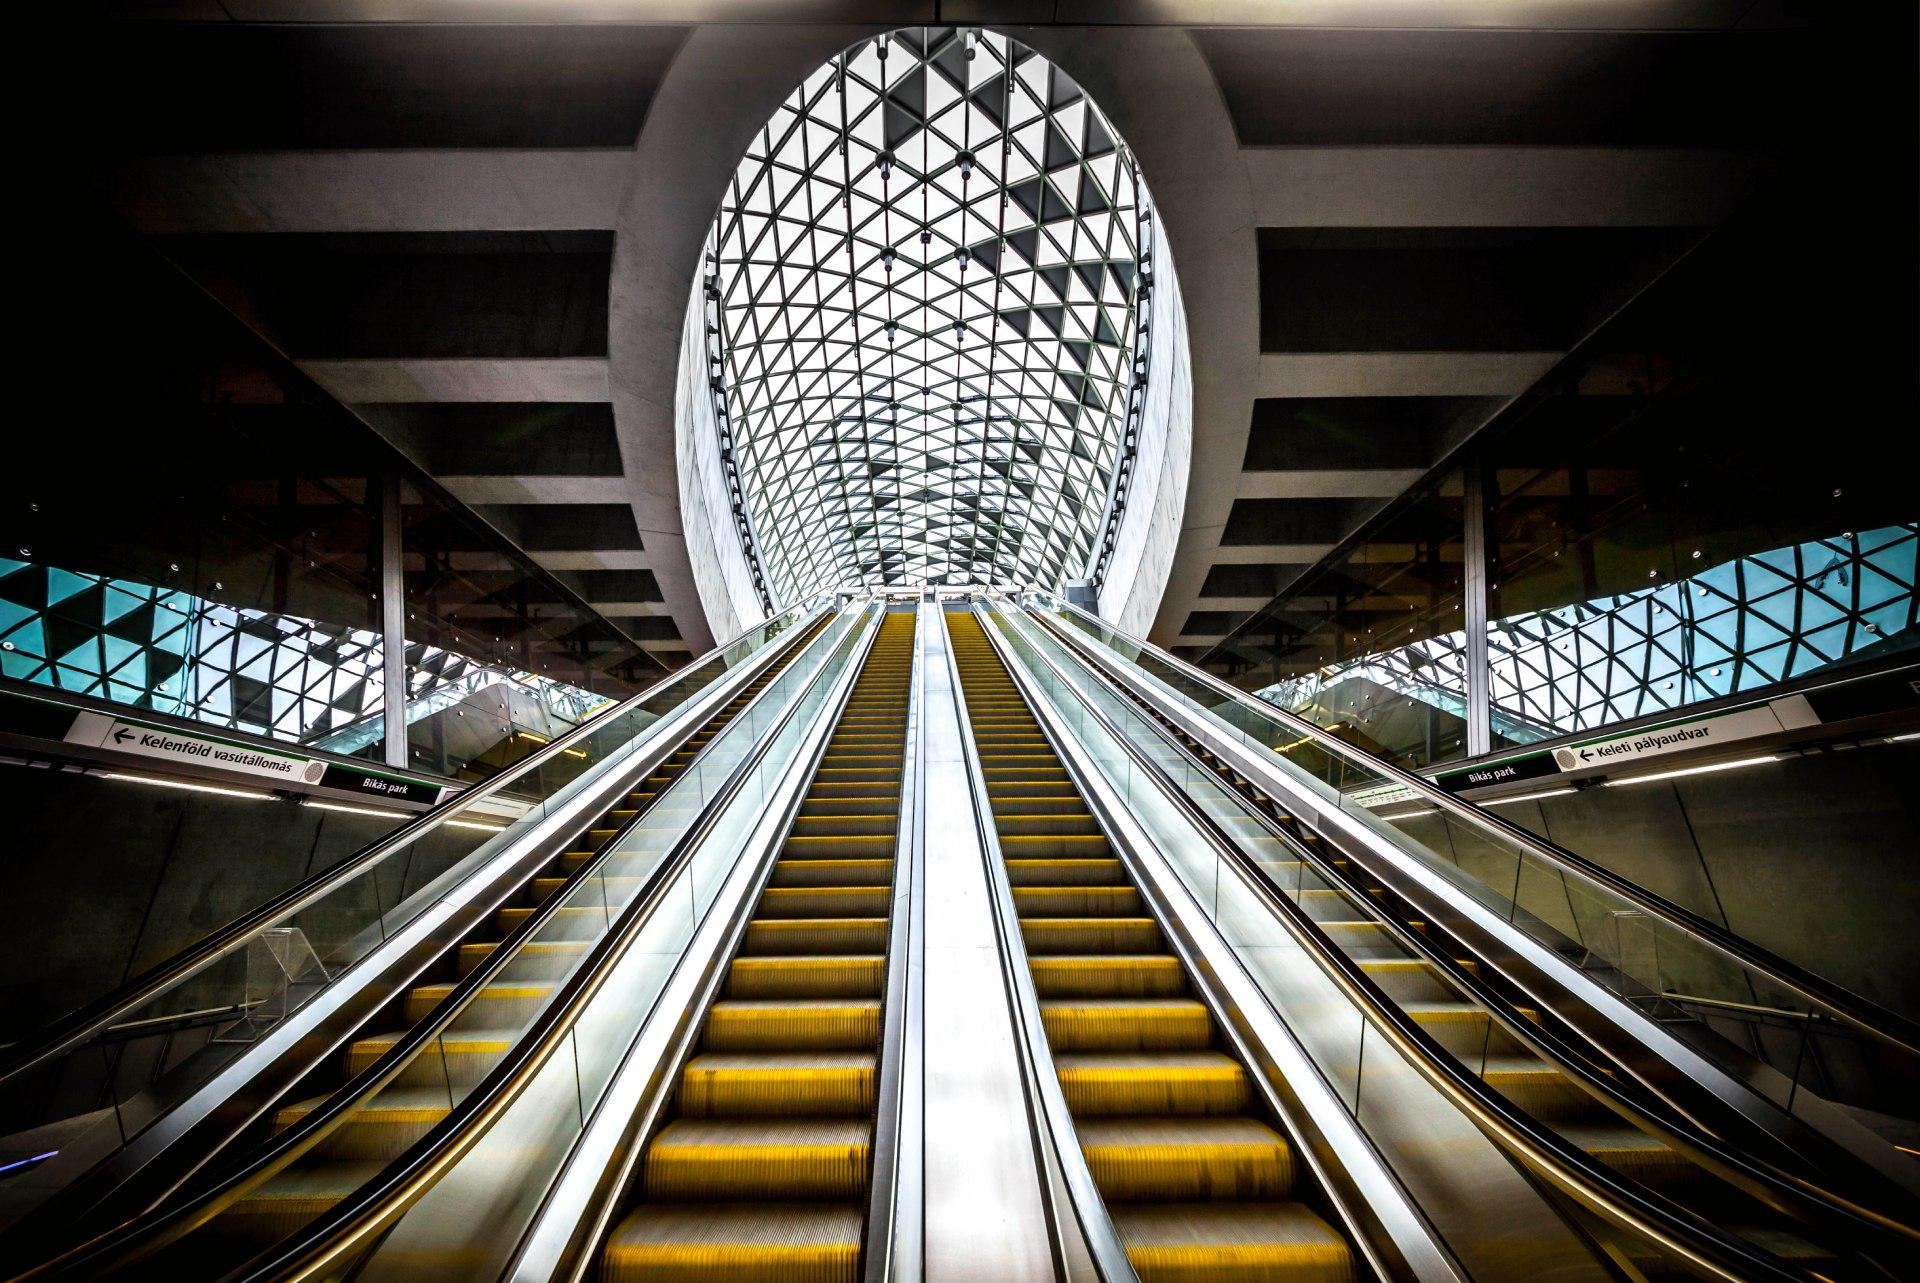
{"label": "dark glass wall with blue triangular panes above the Keleti p\u00e1lyaudvar sign", "polygon": [[1912,317],[1780,255],[1799,213],[1743,211],[1204,663],[1427,766],[1471,663],[1498,751],[1912,653]]}

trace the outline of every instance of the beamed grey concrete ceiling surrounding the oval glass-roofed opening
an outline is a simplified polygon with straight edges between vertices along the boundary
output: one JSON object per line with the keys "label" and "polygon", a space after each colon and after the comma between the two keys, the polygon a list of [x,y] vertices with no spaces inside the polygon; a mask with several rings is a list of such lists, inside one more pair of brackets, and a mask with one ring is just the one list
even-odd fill
{"label": "beamed grey concrete ceiling surrounding the oval glass-roofed opening", "polygon": [[[1801,129],[1784,4],[977,0],[1085,85],[1194,350],[1154,640],[1200,653],[1718,225]],[[484,17],[486,21],[476,21]],[[712,636],[678,332],[751,134],[933,4],[186,0],[98,23],[121,217],[668,663]],[[244,104],[244,106],[236,106]]]}

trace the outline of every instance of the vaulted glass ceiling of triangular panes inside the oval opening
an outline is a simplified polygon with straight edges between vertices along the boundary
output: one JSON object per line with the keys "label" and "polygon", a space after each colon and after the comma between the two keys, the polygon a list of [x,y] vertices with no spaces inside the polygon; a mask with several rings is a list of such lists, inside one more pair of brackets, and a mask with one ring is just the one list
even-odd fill
{"label": "vaulted glass ceiling of triangular panes inside the oval opening", "polygon": [[1087,94],[993,33],[868,40],[781,104],[707,259],[722,459],[770,603],[1089,572],[1144,382],[1146,217]]}

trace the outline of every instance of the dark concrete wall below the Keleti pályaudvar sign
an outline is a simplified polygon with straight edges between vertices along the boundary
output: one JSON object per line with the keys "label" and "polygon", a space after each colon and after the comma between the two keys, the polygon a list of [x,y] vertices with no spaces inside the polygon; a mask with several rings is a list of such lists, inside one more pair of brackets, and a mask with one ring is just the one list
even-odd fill
{"label": "dark concrete wall below the Keleti p\u00e1lyaudvar sign", "polygon": [[[1912,889],[1920,743],[1597,787],[1496,812],[1816,976],[1920,1018],[1920,895]],[[1436,818],[1402,828],[1511,891],[1511,859],[1475,849]],[[1636,941],[1630,920],[1609,922],[1597,901],[1546,880],[1528,878],[1523,901],[1609,953],[1613,932],[1630,955],[1645,956],[1651,947]],[[1730,981],[1670,949],[1659,964],[1674,987]]]}

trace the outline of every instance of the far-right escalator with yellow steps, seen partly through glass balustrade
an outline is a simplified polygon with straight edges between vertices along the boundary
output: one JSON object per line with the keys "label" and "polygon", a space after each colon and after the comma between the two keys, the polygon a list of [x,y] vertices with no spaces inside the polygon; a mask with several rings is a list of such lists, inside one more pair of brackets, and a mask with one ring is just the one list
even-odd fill
{"label": "far-right escalator with yellow steps, seen partly through glass balustrade", "polygon": [[[954,618],[954,632],[962,628],[977,634],[979,622]],[[1069,638],[1060,630],[1056,642]],[[1077,638],[1062,649],[1085,659]],[[985,661],[998,668],[996,657]],[[1098,668],[1089,665],[1089,672]],[[1636,1066],[1596,1056],[1601,1049],[1582,1039],[1584,1026],[1559,1008],[1540,1008],[1501,972],[1501,958],[1461,956],[1471,951],[1436,933],[1413,905],[1373,876],[1371,864],[1350,859],[1338,837],[1317,832],[1284,799],[1258,787],[1125,682],[1104,684],[1140,713],[1139,736],[1164,736],[1165,743],[1148,757],[1169,778],[1183,780],[1188,797],[1200,799],[1198,784],[1212,778],[1212,797],[1231,805],[1208,811],[1246,853],[1246,866],[1298,905],[1459,1070],[1569,1149],[1670,1200],[1684,1220],[1749,1245],[1757,1250],[1753,1260],[1770,1270],[1820,1279],[1905,1277],[1899,1262],[1910,1264],[1910,1231],[1889,1235],[1884,1233],[1889,1227],[1870,1218],[1853,1220],[1843,1198],[1820,1206],[1818,1198],[1805,1198],[1818,1195],[1814,1187],[1782,1177],[1764,1162],[1747,1162],[1663,1102],[1624,1091]],[[1023,718],[1023,732],[1029,722]],[[1039,738],[1037,728],[1025,734]],[[1584,1083],[1569,1068],[1574,1064],[1582,1066]],[[1678,1268],[1645,1239],[1628,1237],[1620,1252],[1647,1277]]]}

